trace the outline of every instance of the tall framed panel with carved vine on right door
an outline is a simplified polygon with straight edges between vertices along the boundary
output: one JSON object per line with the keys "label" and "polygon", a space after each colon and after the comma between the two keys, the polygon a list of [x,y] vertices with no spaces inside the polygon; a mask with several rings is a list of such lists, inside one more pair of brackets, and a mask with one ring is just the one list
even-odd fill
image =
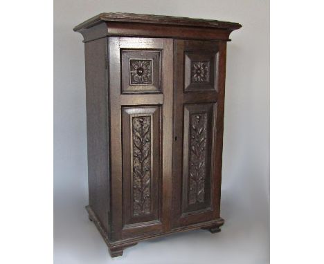
{"label": "tall framed panel with carved vine on right door", "polygon": [[210,210],[214,104],[185,104],[183,113],[182,214]]}

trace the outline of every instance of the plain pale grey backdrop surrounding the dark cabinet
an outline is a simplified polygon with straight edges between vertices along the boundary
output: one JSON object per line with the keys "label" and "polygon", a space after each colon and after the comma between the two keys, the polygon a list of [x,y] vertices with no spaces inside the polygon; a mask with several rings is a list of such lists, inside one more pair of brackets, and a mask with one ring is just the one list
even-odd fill
{"label": "plain pale grey backdrop surrounding the dark cabinet", "polygon": [[[100,12],[239,22],[226,67],[222,232],[138,243],[111,259],[84,206],[87,131],[84,44],[72,31]],[[269,263],[269,1],[54,2],[54,261],[74,263]]]}

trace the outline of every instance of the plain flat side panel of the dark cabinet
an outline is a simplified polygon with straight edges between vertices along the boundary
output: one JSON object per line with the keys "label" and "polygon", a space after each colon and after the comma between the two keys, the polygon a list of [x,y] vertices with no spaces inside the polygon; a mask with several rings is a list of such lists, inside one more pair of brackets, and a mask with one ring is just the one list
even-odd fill
{"label": "plain flat side panel of the dark cabinet", "polygon": [[89,205],[109,230],[109,130],[107,39],[84,44],[87,91]]}

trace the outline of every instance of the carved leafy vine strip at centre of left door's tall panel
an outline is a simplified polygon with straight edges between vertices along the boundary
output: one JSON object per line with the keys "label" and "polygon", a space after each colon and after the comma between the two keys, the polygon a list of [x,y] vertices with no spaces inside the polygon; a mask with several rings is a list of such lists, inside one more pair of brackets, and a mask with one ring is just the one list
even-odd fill
{"label": "carved leafy vine strip at centre of left door's tall panel", "polygon": [[132,118],[133,126],[133,214],[151,212],[151,117]]}

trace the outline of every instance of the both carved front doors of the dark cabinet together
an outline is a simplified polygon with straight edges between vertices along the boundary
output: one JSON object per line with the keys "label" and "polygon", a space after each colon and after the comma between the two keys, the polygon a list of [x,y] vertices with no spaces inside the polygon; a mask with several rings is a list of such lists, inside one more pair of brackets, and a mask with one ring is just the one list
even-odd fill
{"label": "both carved front doors of the dark cabinet together", "polygon": [[112,240],[216,220],[226,43],[108,43]]}

